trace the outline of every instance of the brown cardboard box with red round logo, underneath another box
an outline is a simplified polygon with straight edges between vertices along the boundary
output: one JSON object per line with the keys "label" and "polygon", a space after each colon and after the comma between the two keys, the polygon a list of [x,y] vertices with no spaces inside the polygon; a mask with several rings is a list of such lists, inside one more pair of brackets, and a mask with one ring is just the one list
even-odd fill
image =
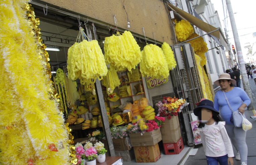
{"label": "brown cardboard box with red round logo, underneath another box", "polygon": [[137,163],[156,162],[161,158],[158,144],[154,146],[134,147],[134,154]]}

